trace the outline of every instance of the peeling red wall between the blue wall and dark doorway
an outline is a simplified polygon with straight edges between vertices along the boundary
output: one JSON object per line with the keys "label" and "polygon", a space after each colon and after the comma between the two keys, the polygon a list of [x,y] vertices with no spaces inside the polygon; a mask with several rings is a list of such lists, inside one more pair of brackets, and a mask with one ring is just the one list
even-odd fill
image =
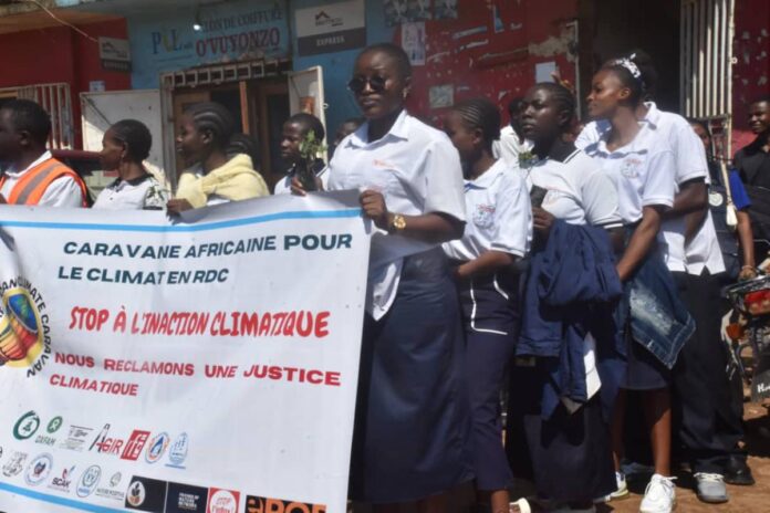
{"label": "peeling red wall between the blue wall and dark doorway", "polygon": [[[430,87],[452,85],[454,101],[487,96],[507,123],[508,102],[534,84],[534,66],[555,61],[561,76],[575,83],[575,65],[568,56],[565,23],[576,19],[578,0],[509,1],[460,0],[456,20],[429,20],[426,25],[426,65],[414,67],[409,111],[439,125],[445,108],[433,108]],[[493,18],[497,8],[498,32]],[[468,29],[482,28],[460,36]],[[402,42],[400,28],[395,42]],[[470,49],[469,43],[478,43]],[[575,49],[576,50],[576,49]]]}

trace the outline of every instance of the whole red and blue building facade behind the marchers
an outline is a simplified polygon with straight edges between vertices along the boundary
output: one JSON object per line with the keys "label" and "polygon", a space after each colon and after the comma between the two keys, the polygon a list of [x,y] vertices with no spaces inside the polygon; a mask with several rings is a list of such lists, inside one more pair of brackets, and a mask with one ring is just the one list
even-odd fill
{"label": "whole red and blue building facade behind the marchers", "polygon": [[[154,121],[160,142],[156,159],[171,178],[177,171],[174,121],[187,105],[211,100],[228,106],[241,130],[258,142],[260,168],[274,180],[282,171],[280,126],[291,113],[315,113],[332,133],[357,115],[346,83],[356,53],[374,42],[405,48],[416,84],[408,107],[435,124],[459,100],[485,95],[504,109],[511,98],[554,75],[583,100],[602,62],[641,48],[656,62],[660,106],[711,119],[722,130],[721,151],[730,155],[750,138],[747,103],[768,92],[766,0],[48,4],[74,28],[52,19],[44,28],[21,23],[22,17],[40,23],[45,13],[0,4],[0,52],[13,56],[0,77],[0,101],[2,91],[13,87],[69,84],[72,144],[87,148],[97,144],[107,121],[144,115]],[[11,21],[17,30],[3,33]],[[104,38],[127,41],[123,71],[105,67],[98,44]],[[28,64],[35,61],[50,64]]]}

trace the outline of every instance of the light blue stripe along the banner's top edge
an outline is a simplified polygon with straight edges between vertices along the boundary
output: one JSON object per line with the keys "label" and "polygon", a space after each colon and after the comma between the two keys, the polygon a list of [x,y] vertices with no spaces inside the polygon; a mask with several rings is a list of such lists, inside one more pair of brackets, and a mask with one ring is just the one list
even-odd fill
{"label": "light blue stripe along the banner's top edge", "polygon": [[43,222],[43,221],[7,221],[0,219],[0,228],[35,228],[42,230],[91,230],[91,231],[134,231],[145,233],[167,232],[199,232],[221,230],[222,228],[243,227],[259,224],[261,222],[282,221],[287,219],[341,219],[361,216],[361,209],[345,210],[313,210],[266,213],[250,218],[231,219],[228,221],[202,222],[200,224],[104,224],[89,222]]}

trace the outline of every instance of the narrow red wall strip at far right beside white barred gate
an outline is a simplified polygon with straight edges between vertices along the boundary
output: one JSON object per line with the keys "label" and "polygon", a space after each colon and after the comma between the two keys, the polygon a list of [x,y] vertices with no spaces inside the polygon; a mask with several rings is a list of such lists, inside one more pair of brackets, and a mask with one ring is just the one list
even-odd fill
{"label": "narrow red wall strip at far right beside white barred gate", "polygon": [[736,39],[732,54],[732,149],[751,143],[748,107],[761,94],[770,94],[770,2],[741,0],[736,2]]}

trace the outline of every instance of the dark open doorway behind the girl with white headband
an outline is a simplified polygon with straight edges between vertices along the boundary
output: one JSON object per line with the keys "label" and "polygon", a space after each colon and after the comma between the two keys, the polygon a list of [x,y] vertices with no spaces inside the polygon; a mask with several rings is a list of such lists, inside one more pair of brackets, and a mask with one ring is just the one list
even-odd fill
{"label": "dark open doorway behind the girl with white headband", "polygon": [[[580,0],[580,77],[584,95],[602,63],[633,49],[646,51],[658,73],[656,103],[679,112],[681,0]],[[580,98],[581,103],[585,98]],[[582,112],[585,112],[584,109]]]}

